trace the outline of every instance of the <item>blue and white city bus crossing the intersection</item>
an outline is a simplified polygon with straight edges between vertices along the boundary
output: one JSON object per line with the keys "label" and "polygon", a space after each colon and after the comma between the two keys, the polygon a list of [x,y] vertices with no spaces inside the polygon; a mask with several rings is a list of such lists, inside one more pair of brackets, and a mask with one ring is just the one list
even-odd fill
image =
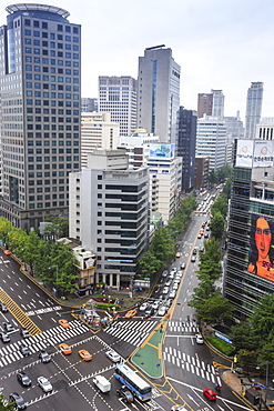
{"label": "blue and white city bus crossing the intersection", "polygon": [[122,384],[126,385],[140,401],[151,400],[152,397],[151,385],[128,365],[125,364],[116,365],[114,377]]}

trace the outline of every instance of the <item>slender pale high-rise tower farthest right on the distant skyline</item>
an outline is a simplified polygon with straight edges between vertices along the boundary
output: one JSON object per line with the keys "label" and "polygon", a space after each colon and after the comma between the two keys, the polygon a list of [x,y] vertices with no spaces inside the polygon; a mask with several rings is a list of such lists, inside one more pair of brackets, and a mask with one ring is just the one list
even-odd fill
{"label": "slender pale high-rise tower farthest right on the distant skyline", "polygon": [[255,139],[256,124],[260,122],[263,104],[264,83],[252,82],[247,90],[245,111],[245,138]]}

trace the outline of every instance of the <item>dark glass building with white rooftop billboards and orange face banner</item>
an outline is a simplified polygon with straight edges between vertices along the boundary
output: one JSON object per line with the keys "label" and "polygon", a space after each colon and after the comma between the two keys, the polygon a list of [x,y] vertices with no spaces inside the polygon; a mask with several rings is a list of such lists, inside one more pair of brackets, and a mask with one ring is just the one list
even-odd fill
{"label": "dark glass building with white rooftop billboards and orange face banner", "polygon": [[239,320],[251,317],[260,299],[273,292],[273,151],[274,141],[235,142],[224,295]]}

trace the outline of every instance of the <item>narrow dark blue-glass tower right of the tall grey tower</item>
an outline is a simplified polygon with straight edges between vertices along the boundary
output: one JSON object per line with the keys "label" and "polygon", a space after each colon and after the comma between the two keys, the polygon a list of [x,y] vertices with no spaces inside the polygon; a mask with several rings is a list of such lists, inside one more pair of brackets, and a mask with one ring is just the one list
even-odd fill
{"label": "narrow dark blue-glass tower right of the tall grey tower", "polygon": [[194,188],[196,128],[196,111],[180,107],[176,154],[182,158],[182,191],[184,192],[190,192]]}

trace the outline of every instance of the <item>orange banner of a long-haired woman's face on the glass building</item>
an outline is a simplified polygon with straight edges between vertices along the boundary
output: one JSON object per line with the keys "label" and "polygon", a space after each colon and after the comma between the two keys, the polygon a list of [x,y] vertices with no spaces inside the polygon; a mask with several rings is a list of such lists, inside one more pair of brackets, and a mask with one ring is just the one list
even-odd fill
{"label": "orange banner of a long-haired woman's face on the glass building", "polygon": [[252,214],[247,271],[274,281],[274,219]]}

